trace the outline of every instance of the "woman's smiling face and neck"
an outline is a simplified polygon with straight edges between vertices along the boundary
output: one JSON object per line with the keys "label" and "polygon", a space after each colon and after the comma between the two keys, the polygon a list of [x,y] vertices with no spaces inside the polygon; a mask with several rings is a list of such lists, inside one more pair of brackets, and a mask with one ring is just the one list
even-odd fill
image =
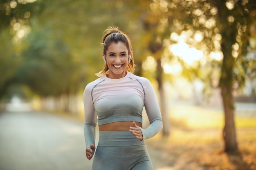
{"label": "woman's smiling face and neck", "polygon": [[128,56],[128,49],[123,42],[112,42],[108,46],[105,59],[109,68],[109,78],[119,79],[126,75]]}

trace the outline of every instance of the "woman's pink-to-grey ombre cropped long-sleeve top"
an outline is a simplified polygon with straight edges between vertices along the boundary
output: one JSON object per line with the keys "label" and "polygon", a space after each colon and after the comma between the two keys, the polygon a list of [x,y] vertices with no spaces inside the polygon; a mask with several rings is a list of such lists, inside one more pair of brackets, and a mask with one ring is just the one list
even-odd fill
{"label": "woman's pink-to-grey ombre cropped long-sleeve top", "polygon": [[103,75],[85,87],[83,101],[86,147],[94,144],[97,121],[99,125],[117,121],[142,123],[143,107],[150,123],[148,128],[141,128],[143,140],[162,130],[162,117],[155,92],[149,80],[144,77],[130,72],[120,79],[110,79]]}

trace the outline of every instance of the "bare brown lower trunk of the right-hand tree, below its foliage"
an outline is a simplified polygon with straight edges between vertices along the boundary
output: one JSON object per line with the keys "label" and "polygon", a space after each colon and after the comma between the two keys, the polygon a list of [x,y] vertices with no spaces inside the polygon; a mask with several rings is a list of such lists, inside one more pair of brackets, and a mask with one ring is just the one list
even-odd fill
{"label": "bare brown lower trunk of the right-hand tree, below its foliage", "polygon": [[237,151],[236,128],[234,122],[234,100],[230,87],[222,86],[222,102],[225,111],[225,126],[223,129],[223,139],[225,141],[225,152]]}

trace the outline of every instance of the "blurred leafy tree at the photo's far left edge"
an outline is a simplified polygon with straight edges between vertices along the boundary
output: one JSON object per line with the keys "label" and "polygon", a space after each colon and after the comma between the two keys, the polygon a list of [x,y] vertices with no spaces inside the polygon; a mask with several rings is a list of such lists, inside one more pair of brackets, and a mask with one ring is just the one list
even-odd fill
{"label": "blurred leafy tree at the photo's far left edge", "polygon": [[40,0],[32,2],[34,1],[0,2],[0,40],[4,42],[0,47],[0,71],[4,73],[0,79],[0,99],[5,97],[8,88],[16,82],[17,69],[21,63],[18,55],[23,48],[22,44],[18,43],[29,32],[29,18],[43,9]]}

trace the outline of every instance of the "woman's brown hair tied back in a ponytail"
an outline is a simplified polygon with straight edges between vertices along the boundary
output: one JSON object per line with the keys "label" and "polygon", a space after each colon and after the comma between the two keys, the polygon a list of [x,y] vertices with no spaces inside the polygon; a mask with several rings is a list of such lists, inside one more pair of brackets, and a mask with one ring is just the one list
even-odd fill
{"label": "woman's brown hair tied back in a ponytail", "polygon": [[[135,64],[133,60],[133,51],[132,51],[132,44],[131,40],[126,35],[126,33],[120,31],[118,27],[111,27],[109,26],[108,29],[104,31],[103,40],[102,40],[102,46],[103,46],[103,53],[106,55],[106,51],[108,50],[108,46],[112,42],[123,42],[126,48],[128,49],[129,55],[131,55],[130,63],[126,66],[126,71],[129,71],[133,73],[135,71]],[[99,72],[96,73],[98,77],[101,77],[102,75],[106,75],[109,72],[108,65],[105,63],[104,68]]]}

